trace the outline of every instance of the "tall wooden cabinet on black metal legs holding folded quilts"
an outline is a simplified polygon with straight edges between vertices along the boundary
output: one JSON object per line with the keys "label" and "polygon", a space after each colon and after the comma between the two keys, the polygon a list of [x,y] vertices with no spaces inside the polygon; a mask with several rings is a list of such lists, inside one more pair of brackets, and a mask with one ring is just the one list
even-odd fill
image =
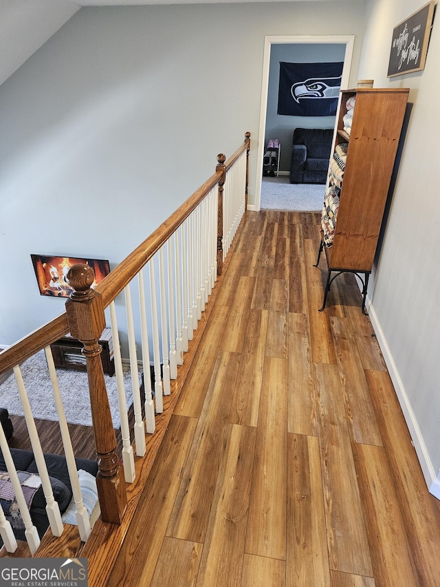
{"label": "tall wooden cabinet on black metal legs holding folded quilts", "polygon": [[[408,92],[407,88],[358,88],[342,92],[336,153],[345,153],[344,170],[333,219],[332,243],[325,239],[326,228],[324,222],[322,224],[317,264],[320,253],[325,250],[328,275],[320,311],[325,308],[333,279],[347,271],[364,274],[364,279],[361,277],[364,282],[362,312],[365,311],[366,287],[373,267]],[[353,101],[355,105],[351,109]],[[347,106],[352,114],[349,134],[344,131],[348,122]],[[332,277],[334,272],[337,275]]]}

